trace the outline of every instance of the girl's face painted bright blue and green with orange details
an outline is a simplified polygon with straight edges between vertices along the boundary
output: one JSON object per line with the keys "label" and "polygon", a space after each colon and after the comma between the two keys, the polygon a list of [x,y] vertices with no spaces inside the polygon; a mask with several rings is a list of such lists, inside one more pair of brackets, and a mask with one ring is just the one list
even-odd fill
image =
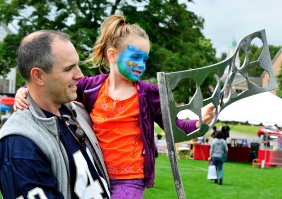
{"label": "girl's face painted bright blue and green with orange details", "polygon": [[118,71],[127,80],[136,82],[144,74],[148,58],[149,52],[128,45],[117,60]]}

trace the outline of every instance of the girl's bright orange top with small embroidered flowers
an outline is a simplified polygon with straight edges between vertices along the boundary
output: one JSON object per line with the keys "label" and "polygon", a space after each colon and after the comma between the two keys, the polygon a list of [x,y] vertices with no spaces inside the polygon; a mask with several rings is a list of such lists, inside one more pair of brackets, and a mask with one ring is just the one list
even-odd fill
{"label": "girl's bright orange top with small embroidered flowers", "polygon": [[108,96],[108,82],[109,78],[102,85],[90,113],[108,175],[116,179],[144,178],[137,85],[133,96],[120,101]]}

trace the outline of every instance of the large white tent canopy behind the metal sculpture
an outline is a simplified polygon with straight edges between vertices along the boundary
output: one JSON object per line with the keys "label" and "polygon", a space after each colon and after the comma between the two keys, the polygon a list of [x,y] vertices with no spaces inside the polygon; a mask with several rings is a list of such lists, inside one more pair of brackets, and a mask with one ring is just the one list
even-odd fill
{"label": "large white tent canopy behind the metal sculpture", "polygon": [[[183,119],[198,118],[189,110],[183,110],[177,116]],[[282,127],[282,99],[270,92],[243,98],[224,108],[220,112],[218,120]]]}

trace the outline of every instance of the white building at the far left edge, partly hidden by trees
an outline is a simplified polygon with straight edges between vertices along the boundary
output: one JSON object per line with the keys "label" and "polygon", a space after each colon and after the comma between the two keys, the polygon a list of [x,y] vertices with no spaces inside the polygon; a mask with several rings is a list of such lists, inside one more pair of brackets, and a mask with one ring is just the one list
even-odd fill
{"label": "white building at the far left edge, partly hidden by trees", "polygon": [[[0,22],[0,42],[4,40],[6,35],[12,34],[12,31],[3,23]],[[16,88],[16,68],[10,69],[7,77],[0,76],[0,93],[14,94]]]}

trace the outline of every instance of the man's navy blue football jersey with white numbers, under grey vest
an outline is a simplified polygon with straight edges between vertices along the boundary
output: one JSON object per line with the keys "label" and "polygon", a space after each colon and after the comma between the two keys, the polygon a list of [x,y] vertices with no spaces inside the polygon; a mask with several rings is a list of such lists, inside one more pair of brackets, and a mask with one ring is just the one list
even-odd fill
{"label": "man's navy blue football jersey with white numbers, under grey vest", "polygon": [[[44,113],[47,117],[54,116]],[[65,148],[69,161],[72,198],[110,198],[107,183],[99,175],[88,148],[79,144],[59,117],[58,121],[61,147]],[[76,131],[72,125],[69,128]],[[2,193],[5,199],[63,198],[56,188],[50,161],[31,140],[9,136],[0,142],[0,152],[0,189],[10,190]]]}

